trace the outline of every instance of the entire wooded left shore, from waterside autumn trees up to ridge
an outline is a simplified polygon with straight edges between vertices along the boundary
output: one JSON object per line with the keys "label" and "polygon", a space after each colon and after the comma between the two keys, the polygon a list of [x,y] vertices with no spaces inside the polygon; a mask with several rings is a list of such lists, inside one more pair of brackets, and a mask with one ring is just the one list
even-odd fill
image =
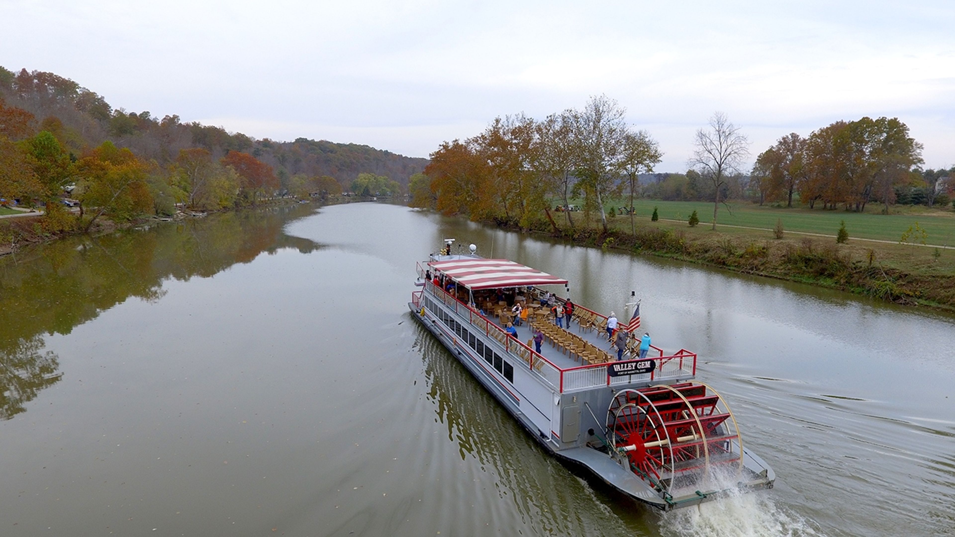
{"label": "entire wooded left shore, from waterside autumn trees up to ridge", "polygon": [[211,210],[276,191],[339,193],[363,172],[403,191],[426,162],[365,145],[255,140],[178,116],[126,112],[68,78],[0,67],[0,197],[7,199],[51,205],[75,184],[74,197],[106,203],[110,216],[169,214],[176,203]]}

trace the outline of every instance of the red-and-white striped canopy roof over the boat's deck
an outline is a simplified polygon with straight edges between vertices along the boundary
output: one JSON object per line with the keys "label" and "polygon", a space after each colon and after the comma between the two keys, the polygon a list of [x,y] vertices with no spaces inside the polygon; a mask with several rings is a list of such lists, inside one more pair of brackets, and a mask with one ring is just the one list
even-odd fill
{"label": "red-and-white striped canopy roof over the boat's deck", "polygon": [[567,280],[508,259],[456,259],[432,261],[428,265],[445,276],[450,276],[458,285],[471,290],[567,283]]}

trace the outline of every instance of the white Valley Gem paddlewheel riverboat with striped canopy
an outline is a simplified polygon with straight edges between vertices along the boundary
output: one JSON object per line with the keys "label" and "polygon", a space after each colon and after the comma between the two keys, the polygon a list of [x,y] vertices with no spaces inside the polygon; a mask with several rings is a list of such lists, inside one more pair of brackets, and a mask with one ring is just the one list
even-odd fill
{"label": "white Valley Gem paddlewheel riverboat with striped canopy", "polygon": [[[484,259],[474,245],[452,253],[453,242],[418,264],[409,307],[547,451],[663,510],[773,486],[772,468],[744,449],[726,401],[694,380],[696,354],[651,345],[640,358],[630,334],[617,360],[605,315],[574,305],[562,328],[553,306],[565,300],[551,295],[554,303],[541,305],[548,286],[566,290],[566,280]],[[514,302],[524,313],[512,319]],[[505,332],[522,317],[516,334]]]}

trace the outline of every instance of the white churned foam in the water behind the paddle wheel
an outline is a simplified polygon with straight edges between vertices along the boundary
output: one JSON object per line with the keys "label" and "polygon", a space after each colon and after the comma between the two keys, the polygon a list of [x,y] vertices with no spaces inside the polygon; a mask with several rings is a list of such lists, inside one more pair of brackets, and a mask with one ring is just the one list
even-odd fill
{"label": "white churned foam in the water behind the paddle wheel", "polygon": [[823,535],[814,526],[796,512],[776,505],[770,494],[737,491],[712,502],[665,514],[660,520],[660,533],[694,537]]}

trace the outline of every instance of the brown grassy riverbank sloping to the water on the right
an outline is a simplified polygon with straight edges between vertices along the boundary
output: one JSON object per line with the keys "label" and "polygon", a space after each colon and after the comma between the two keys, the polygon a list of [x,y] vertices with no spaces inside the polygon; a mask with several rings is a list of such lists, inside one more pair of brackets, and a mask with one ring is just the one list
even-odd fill
{"label": "brown grassy riverbank sloping to the water on the right", "polygon": [[[555,215],[559,217],[559,215]],[[583,220],[580,219],[580,220]],[[638,219],[634,233],[628,218],[610,219],[606,233],[599,223],[574,228],[555,226],[513,230],[556,237],[585,247],[646,253],[734,272],[844,290],[910,306],[955,311],[955,251],[911,244],[775,233],[765,229],[710,226]]]}

